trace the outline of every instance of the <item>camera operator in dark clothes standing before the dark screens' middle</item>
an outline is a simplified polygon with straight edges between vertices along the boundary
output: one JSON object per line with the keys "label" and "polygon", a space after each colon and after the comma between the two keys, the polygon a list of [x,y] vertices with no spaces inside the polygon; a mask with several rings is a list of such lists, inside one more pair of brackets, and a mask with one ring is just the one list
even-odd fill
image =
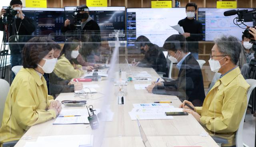
{"label": "camera operator in dark clothes standing before the dark screens' middle", "polygon": [[[86,34],[81,35],[82,38],[82,50],[80,54],[86,62],[95,63],[99,61],[100,53],[98,51],[100,47],[101,37],[100,37],[100,27],[89,15],[89,8],[85,5],[79,6],[79,13],[84,14],[84,19],[81,20],[81,30],[84,30]],[[76,21],[78,21],[75,18]],[[64,27],[62,27],[61,32],[66,33],[67,31],[78,30],[73,22],[66,20]],[[98,43],[87,43],[86,42],[98,42]]]}

